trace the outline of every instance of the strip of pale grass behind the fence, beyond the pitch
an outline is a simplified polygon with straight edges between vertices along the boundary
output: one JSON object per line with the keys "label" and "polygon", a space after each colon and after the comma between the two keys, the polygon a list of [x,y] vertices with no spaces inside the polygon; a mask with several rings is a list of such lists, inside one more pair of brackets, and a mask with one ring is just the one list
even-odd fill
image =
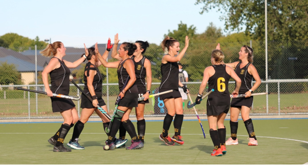
{"label": "strip of pale grass behind the fence, beyond the pitch", "polygon": [[[194,99],[196,96],[191,95]],[[105,102],[107,98],[103,97]],[[114,109],[114,101],[116,97],[109,97],[109,109]],[[188,100],[185,101],[187,104]],[[74,101],[76,108],[78,102]],[[196,106],[199,114],[206,114],[205,102]],[[0,117],[21,117],[28,116],[28,99],[1,99],[0,102]],[[281,113],[298,113],[308,112],[308,95],[307,93],[294,93],[280,95],[280,109]],[[81,109],[80,109],[81,110]],[[38,114],[36,114],[36,101],[34,98],[30,99],[30,113],[31,116],[59,116],[58,113],[52,113],[51,100],[47,96],[38,98]],[[150,104],[146,104],[145,114],[153,114],[152,100]],[[185,114],[193,114],[193,109],[185,108]],[[251,113],[266,113],[266,96],[254,97],[254,107]],[[278,95],[269,95],[269,113],[278,113]],[[135,114],[133,111],[132,114]]]}

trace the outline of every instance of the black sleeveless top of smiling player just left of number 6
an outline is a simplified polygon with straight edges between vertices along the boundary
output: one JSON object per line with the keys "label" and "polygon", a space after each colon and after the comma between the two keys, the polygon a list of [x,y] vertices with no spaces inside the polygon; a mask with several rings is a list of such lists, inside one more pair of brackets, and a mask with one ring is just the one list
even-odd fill
{"label": "black sleeveless top of smiling player just left of number 6", "polygon": [[162,82],[160,89],[179,90],[179,65],[177,62],[167,62],[161,65]]}

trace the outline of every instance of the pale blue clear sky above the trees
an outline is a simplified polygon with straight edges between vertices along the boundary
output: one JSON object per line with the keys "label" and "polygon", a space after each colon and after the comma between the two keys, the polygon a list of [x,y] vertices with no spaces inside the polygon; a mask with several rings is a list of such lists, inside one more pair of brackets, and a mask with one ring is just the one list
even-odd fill
{"label": "pale blue clear sky above the trees", "polygon": [[203,33],[213,22],[224,29],[222,14],[211,10],[200,14],[203,5],[195,0],[0,0],[0,36],[6,33],[40,40],[61,41],[82,48],[83,43],[106,43],[119,33],[120,42],[144,40],[160,44],[168,30],[182,21]]}

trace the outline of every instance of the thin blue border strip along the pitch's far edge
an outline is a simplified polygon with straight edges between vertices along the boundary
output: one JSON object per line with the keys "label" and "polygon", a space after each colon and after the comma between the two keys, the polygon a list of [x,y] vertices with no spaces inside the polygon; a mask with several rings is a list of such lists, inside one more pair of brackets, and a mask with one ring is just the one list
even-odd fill
{"label": "thin blue border strip along the pitch's far edge", "polygon": [[[253,120],[305,120],[308,118],[278,118],[278,119],[253,119]],[[241,119],[238,119],[241,120]],[[198,120],[184,120],[185,122],[192,122]],[[201,121],[208,121],[208,120],[201,120]],[[226,119],[226,121],[230,121],[230,119]],[[133,120],[131,122],[137,122],[137,120]],[[163,122],[163,120],[150,120],[146,122]],[[63,123],[63,122],[9,122],[9,123],[0,123],[0,124],[45,124],[45,123]],[[87,123],[101,123],[101,121],[90,121]]]}

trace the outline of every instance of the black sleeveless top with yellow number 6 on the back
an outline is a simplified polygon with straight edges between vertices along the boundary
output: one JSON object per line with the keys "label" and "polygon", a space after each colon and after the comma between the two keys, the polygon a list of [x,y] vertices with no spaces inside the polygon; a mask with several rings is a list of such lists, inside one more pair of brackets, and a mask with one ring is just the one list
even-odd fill
{"label": "black sleeveless top with yellow number 6 on the back", "polygon": [[209,78],[209,89],[214,92],[208,96],[207,105],[230,105],[229,80],[231,76],[226,72],[226,65],[212,65],[215,74]]}

